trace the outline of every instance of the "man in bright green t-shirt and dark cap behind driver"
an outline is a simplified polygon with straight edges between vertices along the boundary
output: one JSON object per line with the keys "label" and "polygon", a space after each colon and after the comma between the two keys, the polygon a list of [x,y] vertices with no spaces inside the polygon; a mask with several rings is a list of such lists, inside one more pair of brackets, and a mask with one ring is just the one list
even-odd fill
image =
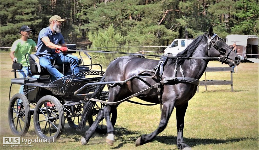
{"label": "man in bright green t-shirt and dark cap behind driver", "polygon": [[[20,78],[39,78],[39,75],[31,76],[29,74],[29,68],[26,62],[26,59],[28,59],[28,55],[26,54],[31,54],[33,49],[37,50],[37,44],[32,39],[28,39],[31,34],[31,30],[32,29],[30,29],[28,26],[22,26],[20,28],[21,38],[13,42],[12,47],[10,49],[10,57],[13,60],[13,62],[21,63],[23,65],[23,69],[20,70],[21,72],[18,72]],[[25,56],[27,56],[27,58],[25,58]],[[23,88],[24,85],[21,85],[19,93],[23,94]],[[19,100],[18,104],[20,103],[21,101]]]}

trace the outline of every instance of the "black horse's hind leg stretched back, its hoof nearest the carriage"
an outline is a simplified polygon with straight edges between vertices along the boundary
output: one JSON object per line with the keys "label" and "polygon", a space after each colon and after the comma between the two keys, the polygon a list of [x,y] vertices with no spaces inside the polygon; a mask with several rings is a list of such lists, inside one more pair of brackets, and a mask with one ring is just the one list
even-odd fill
{"label": "black horse's hind leg stretched back, its hoof nearest the carriage", "polygon": [[103,118],[104,118],[104,112],[100,110],[93,124],[85,132],[84,137],[81,138],[82,145],[86,145],[88,143],[89,139],[92,137],[93,133],[95,132],[96,127],[103,120]]}

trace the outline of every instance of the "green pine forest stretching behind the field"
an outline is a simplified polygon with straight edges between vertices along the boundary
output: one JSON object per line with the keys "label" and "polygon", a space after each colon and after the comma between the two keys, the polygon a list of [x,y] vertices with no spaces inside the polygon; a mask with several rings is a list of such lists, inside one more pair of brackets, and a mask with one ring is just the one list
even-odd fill
{"label": "green pine forest stretching behind the field", "polygon": [[66,19],[65,41],[84,41],[83,47],[168,46],[202,35],[210,25],[221,38],[259,34],[258,0],[0,0],[0,47],[11,47],[22,25],[33,28],[30,38],[37,43],[53,15]]}

